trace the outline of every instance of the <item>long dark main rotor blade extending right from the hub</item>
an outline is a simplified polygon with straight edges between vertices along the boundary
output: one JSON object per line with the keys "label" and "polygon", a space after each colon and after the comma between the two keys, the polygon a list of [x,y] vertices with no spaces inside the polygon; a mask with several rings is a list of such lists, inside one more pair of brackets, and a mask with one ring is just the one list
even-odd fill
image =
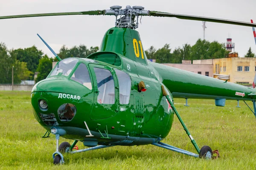
{"label": "long dark main rotor blade extending right from the hub", "polygon": [[224,20],[224,19],[210,18],[210,17],[199,17],[199,16],[183,15],[183,14],[171,14],[171,13],[158,12],[158,11],[149,11],[148,15],[154,16],[154,17],[176,17],[184,20],[198,20],[198,21],[208,21],[213,23],[225,23],[225,24],[233,24],[233,25],[239,25],[239,26],[256,27],[256,24],[254,23],[246,23],[241,21]]}

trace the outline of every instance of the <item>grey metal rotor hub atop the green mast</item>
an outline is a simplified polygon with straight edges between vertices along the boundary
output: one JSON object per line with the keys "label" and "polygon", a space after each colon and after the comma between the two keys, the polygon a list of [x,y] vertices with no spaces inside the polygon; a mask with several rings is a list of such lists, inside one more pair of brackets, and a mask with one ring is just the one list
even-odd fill
{"label": "grey metal rotor hub atop the green mast", "polygon": [[[132,28],[139,27],[139,16],[148,15],[149,11],[144,10],[143,6],[126,6],[125,9],[121,9],[122,6],[111,6],[110,9],[105,10],[105,15],[115,15],[116,22],[115,27],[119,28]],[[120,16],[118,18],[118,16]],[[135,23],[135,18],[137,21]]]}

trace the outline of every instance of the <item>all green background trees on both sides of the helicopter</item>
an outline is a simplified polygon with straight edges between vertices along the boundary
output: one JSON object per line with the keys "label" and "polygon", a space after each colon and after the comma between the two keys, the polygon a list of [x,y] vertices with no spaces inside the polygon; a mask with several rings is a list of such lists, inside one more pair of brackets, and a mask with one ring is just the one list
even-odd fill
{"label": "all green background trees on both sides of the helicopter", "polygon": [[[58,53],[61,59],[68,57],[85,58],[99,50],[99,47],[87,48],[85,45],[67,48],[63,45]],[[209,42],[198,39],[195,45],[184,44],[182,47],[172,50],[169,44],[163,48],[156,49],[151,46],[145,50],[148,59],[156,59],[158,63],[182,63],[182,60],[215,59],[228,55],[224,44],[217,41]],[[245,57],[255,57],[249,48]],[[34,80],[35,72],[38,73],[35,82],[45,79],[52,70],[52,62],[56,58],[49,58],[35,46],[29,48],[7,49],[4,43],[0,43],[0,84],[12,82],[12,67],[14,69],[14,83],[19,84],[21,80]]]}

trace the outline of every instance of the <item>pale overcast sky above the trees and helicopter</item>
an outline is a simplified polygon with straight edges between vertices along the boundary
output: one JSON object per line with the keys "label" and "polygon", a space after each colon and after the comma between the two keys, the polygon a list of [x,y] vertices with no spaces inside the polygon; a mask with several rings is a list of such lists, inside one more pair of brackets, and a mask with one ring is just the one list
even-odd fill
{"label": "pale overcast sky above the trees and helicopter", "polygon": [[[176,14],[216,17],[229,20],[256,23],[256,0],[0,0],[0,16],[73,12],[109,9],[119,5],[144,6],[145,10],[163,11]],[[55,16],[0,20],[0,42],[9,49],[27,48],[35,45],[45,54],[53,54],[41,42],[37,33],[58,53],[62,45],[72,47],[84,44],[87,47],[99,46],[105,31],[114,27],[114,16]],[[180,20],[167,17],[143,17],[137,31],[143,48],[151,45],[162,48],[170,44],[172,49],[185,43],[194,45],[203,38],[201,21]],[[235,51],[244,56],[256,45],[251,27],[233,26],[221,23],[206,23],[205,39],[212,42],[226,42],[228,34],[235,43]]]}

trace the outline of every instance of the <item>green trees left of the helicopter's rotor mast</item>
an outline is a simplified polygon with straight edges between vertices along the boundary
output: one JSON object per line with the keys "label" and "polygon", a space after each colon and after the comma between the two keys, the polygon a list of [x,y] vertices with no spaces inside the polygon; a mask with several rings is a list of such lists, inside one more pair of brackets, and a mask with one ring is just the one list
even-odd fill
{"label": "green trees left of the helicopter's rotor mast", "polygon": [[[87,48],[85,45],[79,45],[67,48],[63,45],[58,56],[61,59],[67,57],[85,58],[98,50],[99,47]],[[39,82],[48,76],[52,70],[53,61],[57,61],[57,59],[49,58],[35,46],[9,50],[4,43],[0,43],[0,84],[12,83],[12,67],[15,84],[20,84],[21,80],[34,80],[35,72],[38,72],[35,82]]]}

